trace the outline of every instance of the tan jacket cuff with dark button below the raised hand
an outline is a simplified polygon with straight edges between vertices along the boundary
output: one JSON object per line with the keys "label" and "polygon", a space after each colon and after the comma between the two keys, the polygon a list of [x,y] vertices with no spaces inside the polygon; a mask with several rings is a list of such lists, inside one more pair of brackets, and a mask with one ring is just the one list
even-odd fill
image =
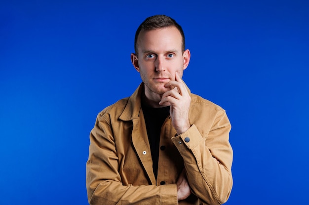
{"label": "tan jacket cuff with dark button below the raised hand", "polygon": [[186,132],[172,137],[171,140],[181,152],[187,149],[193,149],[193,147],[197,146],[203,140],[203,137],[193,124]]}

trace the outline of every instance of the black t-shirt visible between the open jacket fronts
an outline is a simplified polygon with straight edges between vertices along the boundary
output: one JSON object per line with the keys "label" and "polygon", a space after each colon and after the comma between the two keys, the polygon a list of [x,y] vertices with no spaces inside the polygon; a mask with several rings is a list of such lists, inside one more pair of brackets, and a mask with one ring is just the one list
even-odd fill
{"label": "black t-shirt visible between the open jacket fronts", "polygon": [[159,146],[161,127],[166,117],[169,115],[169,107],[152,108],[142,103],[142,110],[145,117],[148,140],[150,144],[151,156],[153,159],[154,176],[156,179],[159,160]]}

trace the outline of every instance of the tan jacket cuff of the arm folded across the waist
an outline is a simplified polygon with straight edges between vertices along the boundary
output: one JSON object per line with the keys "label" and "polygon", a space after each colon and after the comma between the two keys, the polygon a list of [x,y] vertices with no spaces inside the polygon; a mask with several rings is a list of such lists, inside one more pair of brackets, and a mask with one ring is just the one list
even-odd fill
{"label": "tan jacket cuff of the arm folded across the waist", "polygon": [[161,205],[177,205],[177,186],[176,184],[160,185]]}

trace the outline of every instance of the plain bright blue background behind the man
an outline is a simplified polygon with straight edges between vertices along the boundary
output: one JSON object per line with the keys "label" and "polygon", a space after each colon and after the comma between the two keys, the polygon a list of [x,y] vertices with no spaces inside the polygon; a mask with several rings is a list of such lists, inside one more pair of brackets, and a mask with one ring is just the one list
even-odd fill
{"label": "plain bright blue background behind the man", "polygon": [[227,205],[308,204],[309,1],[0,2],[0,205],[86,205],[89,132],[140,84],[148,16],[182,25],[184,81],[232,123]]}

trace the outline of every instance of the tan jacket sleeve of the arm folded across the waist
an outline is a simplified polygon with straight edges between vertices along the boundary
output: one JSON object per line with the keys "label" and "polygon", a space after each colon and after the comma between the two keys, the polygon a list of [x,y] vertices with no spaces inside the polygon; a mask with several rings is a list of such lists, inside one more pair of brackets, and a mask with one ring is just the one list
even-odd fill
{"label": "tan jacket sleeve of the arm folded across the waist", "polygon": [[175,205],[176,184],[123,185],[115,138],[108,119],[98,115],[90,133],[86,188],[90,205]]}

